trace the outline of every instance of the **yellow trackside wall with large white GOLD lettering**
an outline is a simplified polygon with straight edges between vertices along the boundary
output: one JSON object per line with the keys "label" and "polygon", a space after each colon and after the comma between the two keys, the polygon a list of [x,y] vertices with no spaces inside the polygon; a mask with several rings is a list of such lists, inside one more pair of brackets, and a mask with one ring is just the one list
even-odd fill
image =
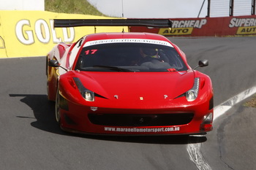
{"label": "yellow trackside wall with large white GOLD lettering", "polygon": [[[45,56],[59,42],[75,42],[95,32],[94,26],[53,28],[53,19],[106,18],[44,11],[0,11],[0,58]],[[96,28],[97,33],[122,30],[123,27]],[[124,27],[124,31],[128,28]]]}

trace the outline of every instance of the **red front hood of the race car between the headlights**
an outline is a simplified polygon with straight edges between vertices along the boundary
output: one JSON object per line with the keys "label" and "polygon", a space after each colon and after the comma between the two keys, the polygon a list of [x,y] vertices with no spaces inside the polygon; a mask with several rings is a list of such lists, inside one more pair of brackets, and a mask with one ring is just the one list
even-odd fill
{"label": "red front hood of the race car between the headlights", "polygon": [[97,96],[118,100],[173,99],[191,89],[194,72],[80,72],[77,77]]}

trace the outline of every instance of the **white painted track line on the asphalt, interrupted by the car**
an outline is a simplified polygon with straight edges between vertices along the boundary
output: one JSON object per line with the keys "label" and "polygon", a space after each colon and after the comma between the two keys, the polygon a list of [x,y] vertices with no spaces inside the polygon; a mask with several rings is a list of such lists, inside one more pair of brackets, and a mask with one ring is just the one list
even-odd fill
{"label": "white painted track line on the asphalt, interrupted by the car", "polygon": [[[240,101],[252,96],[256,93],[256,86],[244,90],[242,93],[239,93],[236,96],[228,99],[227,101],[219,104],[219,106],[214,107],[214,120],[216,120],[219,116],[225,114],[227,110],[233,107],[235,104],[238,104]],[[201,143],[197,144],[187,144],[187,152],[189,152],[190,160],[195,163],[197,169],[199,170],[211,170],[211,166],[208,165],[205,158],[200,151]]]}

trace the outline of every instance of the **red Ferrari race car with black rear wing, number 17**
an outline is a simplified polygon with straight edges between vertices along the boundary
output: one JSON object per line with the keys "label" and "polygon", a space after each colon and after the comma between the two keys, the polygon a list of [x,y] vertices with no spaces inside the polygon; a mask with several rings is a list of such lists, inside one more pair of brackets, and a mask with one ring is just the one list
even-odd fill
{"label": "red Ferrari race car with black rear wing, number 17", "polygon": [[[57,27],[86,25],[84,20],[55,22]],[[141,20],[104,22],[87,21],[161,26]],[[60,43],[48,53],[47,77],[48,99],[56,101],[56,120],[64,131],[164,135],[212,130],[211,79],[192,69],[186,55],[159,34],[99,33]]]}

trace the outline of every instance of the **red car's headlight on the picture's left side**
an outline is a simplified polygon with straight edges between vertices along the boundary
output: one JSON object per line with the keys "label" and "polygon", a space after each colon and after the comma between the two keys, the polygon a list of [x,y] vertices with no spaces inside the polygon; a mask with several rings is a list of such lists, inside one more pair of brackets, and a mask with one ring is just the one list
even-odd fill
{"label": "red car's headlight on the picture's left side", "polygon": [[94,101],[94,92],[85,88],[78,77],[73,77],[75,84],[78,86],[80,94],[86,101]]}

